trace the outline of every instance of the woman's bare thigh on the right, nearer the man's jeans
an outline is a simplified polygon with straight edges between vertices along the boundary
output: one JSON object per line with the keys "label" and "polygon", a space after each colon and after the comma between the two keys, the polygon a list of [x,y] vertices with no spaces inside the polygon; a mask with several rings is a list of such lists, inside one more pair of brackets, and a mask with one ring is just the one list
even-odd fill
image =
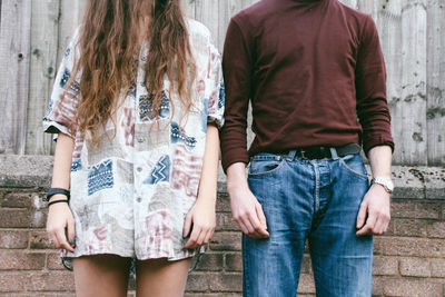
{"label": "woman's bare thigh on the right, nearer the man's jeans", "polygon": [[190,259],[168,261],[152,259],[136,264],[138,297],[182,297]]}

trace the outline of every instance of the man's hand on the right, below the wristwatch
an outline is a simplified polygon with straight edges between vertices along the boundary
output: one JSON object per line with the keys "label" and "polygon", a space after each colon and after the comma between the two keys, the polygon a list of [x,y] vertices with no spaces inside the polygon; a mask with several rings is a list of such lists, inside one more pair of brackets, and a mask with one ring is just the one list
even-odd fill
{"label": "man's hand on the right, below the wristwatch", "polygon": [[[362,201],[357,216],[356,235],[380,235],[388,229],[390,220],[390,195],[382,185],[374,184]],[[365,224],[366,222],[366,224]]]}

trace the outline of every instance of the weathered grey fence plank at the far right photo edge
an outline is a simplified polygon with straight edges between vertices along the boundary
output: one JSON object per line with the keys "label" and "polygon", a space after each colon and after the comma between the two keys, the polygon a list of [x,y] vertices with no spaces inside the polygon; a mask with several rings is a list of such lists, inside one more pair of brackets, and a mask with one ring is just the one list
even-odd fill
{"label": "weathered grey fence plank at the far right photo edge", "polygon": [[445,165],[445,3],[427,2],[428,165]]}

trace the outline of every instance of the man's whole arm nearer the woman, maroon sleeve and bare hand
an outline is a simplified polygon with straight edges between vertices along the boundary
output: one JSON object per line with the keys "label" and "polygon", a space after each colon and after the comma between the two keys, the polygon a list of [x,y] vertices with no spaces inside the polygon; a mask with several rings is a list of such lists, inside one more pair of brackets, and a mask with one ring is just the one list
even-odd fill
{"label": "man's whole arm nearer the woman, maroon sleeve and bare hand", "polygon": [[247,110],[250,98],[253,52],[250,36],[245,27],[230,20],[222,55],[226,83],[225,125],[220,131],[222,168],[227,172],[227,190],[234,220],[246,235],[268,237],[266,217],[246,179]]}

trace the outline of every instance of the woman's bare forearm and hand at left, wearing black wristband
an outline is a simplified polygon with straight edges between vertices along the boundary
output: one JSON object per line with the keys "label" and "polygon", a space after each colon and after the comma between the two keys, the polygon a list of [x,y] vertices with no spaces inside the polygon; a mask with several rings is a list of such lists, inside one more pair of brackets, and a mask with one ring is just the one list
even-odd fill
{"label": "woman's bare forearm and hand at left, wearing black wristband", "polygon": [[[70,188],[71,158],[73,148],[75,140],[65,133],[59,133],[56,145],[51,188]],[[50,201],[66,199],[67,197],[65,195],[57,194],[50,198]],[[68,204],[60,202],[49,207],[47,232],[49,239],[53,241],[55,247],[73,251],[75,220]]]}

